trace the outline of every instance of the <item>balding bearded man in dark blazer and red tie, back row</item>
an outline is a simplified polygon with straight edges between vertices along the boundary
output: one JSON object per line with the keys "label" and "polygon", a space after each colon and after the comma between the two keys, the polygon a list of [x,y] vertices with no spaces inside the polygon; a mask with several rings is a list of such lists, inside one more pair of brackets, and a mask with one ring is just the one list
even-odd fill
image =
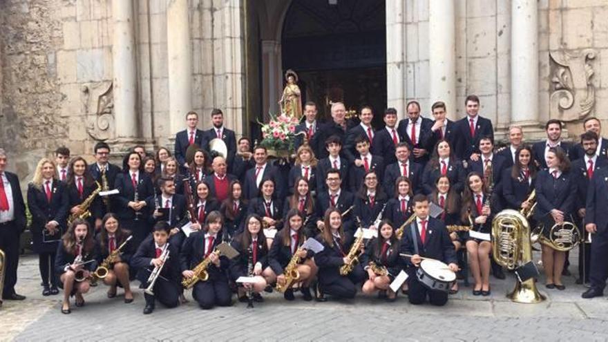
{"label": "balding bearded man in dark blazer and red tie, back row", "polygon": [[430,151],[433,149],[433,121],[420,116],[420,104],[416,101],[408,102],[408,118],[399,122],[397,131],[403,141],[412,146],[412,158],[422,167],[428,162]]}

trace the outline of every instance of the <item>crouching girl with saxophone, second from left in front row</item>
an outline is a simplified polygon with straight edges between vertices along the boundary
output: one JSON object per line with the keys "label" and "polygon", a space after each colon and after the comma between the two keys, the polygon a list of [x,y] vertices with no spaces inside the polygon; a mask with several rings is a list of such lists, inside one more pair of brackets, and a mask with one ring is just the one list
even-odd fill
{"label": "crouching girl with saxophone, second from left in front row", "polygon": [[[106,213],[102,219],[102,231],[97,234],[95,239],[95,256],[100,265],[110,254],[117,250],[127,238],[131,236],[131,231],[122,229],[118,222],[118,217],[114,213]],[[135,254],[137,246],[133,239],[129,240],[120,250],[115,263],[108,267],[108,274],[104,278],[104,284],[108,285],[108,298],[116,296],[117,286],[124,288],[124,303],[133,302],[133,293],[129,283],[129,263],[131,256]]]}

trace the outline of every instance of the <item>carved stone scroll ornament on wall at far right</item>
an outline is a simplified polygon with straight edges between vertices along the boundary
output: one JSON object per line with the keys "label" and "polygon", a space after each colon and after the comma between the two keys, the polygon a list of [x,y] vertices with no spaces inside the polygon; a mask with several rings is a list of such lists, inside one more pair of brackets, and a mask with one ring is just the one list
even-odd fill
{"label": "carved stone scroll ornament on wall at far right", "polygon": [[551,57],[552,119],[564,122],[579,120],[591,112],[596,103],[591,84],[593,67],[589,63],[596,51],[587,48],[576,52],[553,51]]}

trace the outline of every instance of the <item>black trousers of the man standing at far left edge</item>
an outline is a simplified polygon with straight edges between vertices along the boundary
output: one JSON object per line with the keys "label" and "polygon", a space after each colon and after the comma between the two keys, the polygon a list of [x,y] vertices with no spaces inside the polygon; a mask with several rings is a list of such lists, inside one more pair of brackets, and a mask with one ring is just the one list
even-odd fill
{"label": "black trousers of the man standing at far left edge", "polygon": [[19,266],[19,235],[21,232],[15,224],[15,220],[0,223],[0,249],[6,258],[6,274],[4,276],[4,288],[2,296],[10,296],[15,293],[17,284],[17,266]]}

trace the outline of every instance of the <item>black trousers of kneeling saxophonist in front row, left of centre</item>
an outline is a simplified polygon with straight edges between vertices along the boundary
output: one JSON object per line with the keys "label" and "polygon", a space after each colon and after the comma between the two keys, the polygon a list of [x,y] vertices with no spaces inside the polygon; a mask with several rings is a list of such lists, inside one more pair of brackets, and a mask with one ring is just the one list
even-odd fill
{"label": "black trousers of kneeling saxophonist in front row, left of centre", "polygon": [[216,305],[232,305],[232,291],[224,274],[209,276],[207,281],[199,281],[192,289],[192,297],[202,309],[209,310]]}

